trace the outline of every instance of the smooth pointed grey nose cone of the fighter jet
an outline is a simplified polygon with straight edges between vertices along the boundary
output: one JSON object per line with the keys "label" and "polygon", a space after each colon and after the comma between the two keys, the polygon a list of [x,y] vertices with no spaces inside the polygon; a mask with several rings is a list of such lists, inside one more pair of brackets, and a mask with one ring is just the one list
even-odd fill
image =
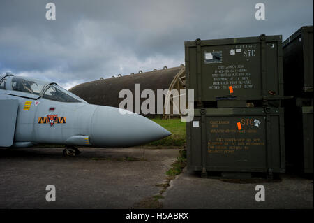
{"label": "smooth pointed grey nose cone of the fighter jet", "polygon": [[170,136],[156,122],[119,108],[99,106],[91,122],[91,144],[103,148],[142,145]]}

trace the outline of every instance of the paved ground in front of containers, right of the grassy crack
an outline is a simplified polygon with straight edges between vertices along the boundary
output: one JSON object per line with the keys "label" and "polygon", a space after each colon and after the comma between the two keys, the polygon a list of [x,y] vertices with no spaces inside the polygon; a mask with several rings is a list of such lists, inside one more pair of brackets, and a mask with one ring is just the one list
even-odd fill
{"label": "paved ground in front of containers, right of the grassy crack", "polygon": [[[287,174],[281,174],[280,178],[271,182],[240,183],[237,180],[200,178],[200,175],[184,169],[165,192],[163,208],[313,208],[313,180]],[[264,186],[265,201],[255,200],[257,185]]]}

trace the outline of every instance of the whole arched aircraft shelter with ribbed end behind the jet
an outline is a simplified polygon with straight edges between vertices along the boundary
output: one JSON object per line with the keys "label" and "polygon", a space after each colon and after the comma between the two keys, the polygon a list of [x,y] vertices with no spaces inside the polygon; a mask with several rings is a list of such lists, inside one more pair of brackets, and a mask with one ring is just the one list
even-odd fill
{"label": "whole arched aircraft shelter with ribbed end behind the jet", "polygon": [[[82,83],[71,88],[69,91],[80,98],[84,99],[88,103],[101,105],[101,106],[112,106],[119,107],[119,103],[124,100],[124,98],[119,98],[119,92],[121,89],[130,89],[133,94],[133,112],[134,109],[134,95],[135,95],[135,84],[140,84],[140,91],[144,89],[151,89],[155,93],[155,114],[157,114],[157,89],[185,89],[186,82],[185,67],[183,64],[181,66],[167,68],[164,66],[162,70],[149,71],[142,73],[131,73],[130,75],[118,75],[117,77],[112,76],[112,78],[100,80],[94,80],[91,82]],[[142,101],[146,99],[141,98]],[[167,106],[167,101],[170,101],[170,114],[165,114],[165,106]],[[179,110],[179,104],[173,103],[172,95],[168,94],[163,98],[163,117],[179,116],[181,115]],[[177,110],[174,112],[174,110]],[[141,115],[155,117],[156,115],[142,114]]]}

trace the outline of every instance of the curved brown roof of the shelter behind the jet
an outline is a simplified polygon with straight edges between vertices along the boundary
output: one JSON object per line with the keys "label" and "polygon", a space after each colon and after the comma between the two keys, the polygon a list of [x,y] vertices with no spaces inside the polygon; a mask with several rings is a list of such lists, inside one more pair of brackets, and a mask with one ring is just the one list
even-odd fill
{"label": "curved brown roof of the shelter behind the jet", "polygon": [[[151,89],[157,93],[157,89],[170,89],[170,85],[178,74],[184,73],[184,66],[178,66],[167,69],[165,66],[162,70],[149,71],[145,73],[136,73],[130,75],[118,75],[117,77],[95,80],[77,85],[70,89],[70,92],[80,96],[88,103],[119,107],[119,103],[124,99],[119,99],[121,89],[130,89],[133,94],[133,111],[134,111],[134,93],[135,84],[140,84],[140,91]],[[140,72],[140,71],[139,71]],[[144,101],[145,99],[141,99]],[[155,99],[155,103],[156,103]]]}

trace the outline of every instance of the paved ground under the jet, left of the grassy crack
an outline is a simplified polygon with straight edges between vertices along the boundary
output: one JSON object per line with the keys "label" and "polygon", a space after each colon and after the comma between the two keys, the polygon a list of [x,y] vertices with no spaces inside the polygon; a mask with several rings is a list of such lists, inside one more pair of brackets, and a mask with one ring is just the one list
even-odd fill
{"label": "paved ground under the jet, left of the grassy crack", "polygon": [[[0,150],[0,208],[145,208],[179,154],[170,149]],[[47,185],[56,201],[47,202]]]}

